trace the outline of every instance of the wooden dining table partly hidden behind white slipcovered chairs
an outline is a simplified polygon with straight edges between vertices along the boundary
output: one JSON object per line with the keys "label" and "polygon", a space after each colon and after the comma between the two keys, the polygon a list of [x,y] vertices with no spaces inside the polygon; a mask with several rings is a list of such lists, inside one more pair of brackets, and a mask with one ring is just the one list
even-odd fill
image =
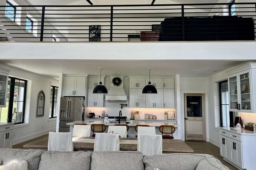
{"label": "wooden dining table partly hidden behind white slipcovered chairs", "polygon": [[[74,151],[93,151],[94,137],[73,137]],[[120,150],[137,150],[137,138],[120,138]],[[33,141],[23,146],[28,149],[48,150],[48,137]],[[180,139],[163,139],[163,153],[194,152]]]}

